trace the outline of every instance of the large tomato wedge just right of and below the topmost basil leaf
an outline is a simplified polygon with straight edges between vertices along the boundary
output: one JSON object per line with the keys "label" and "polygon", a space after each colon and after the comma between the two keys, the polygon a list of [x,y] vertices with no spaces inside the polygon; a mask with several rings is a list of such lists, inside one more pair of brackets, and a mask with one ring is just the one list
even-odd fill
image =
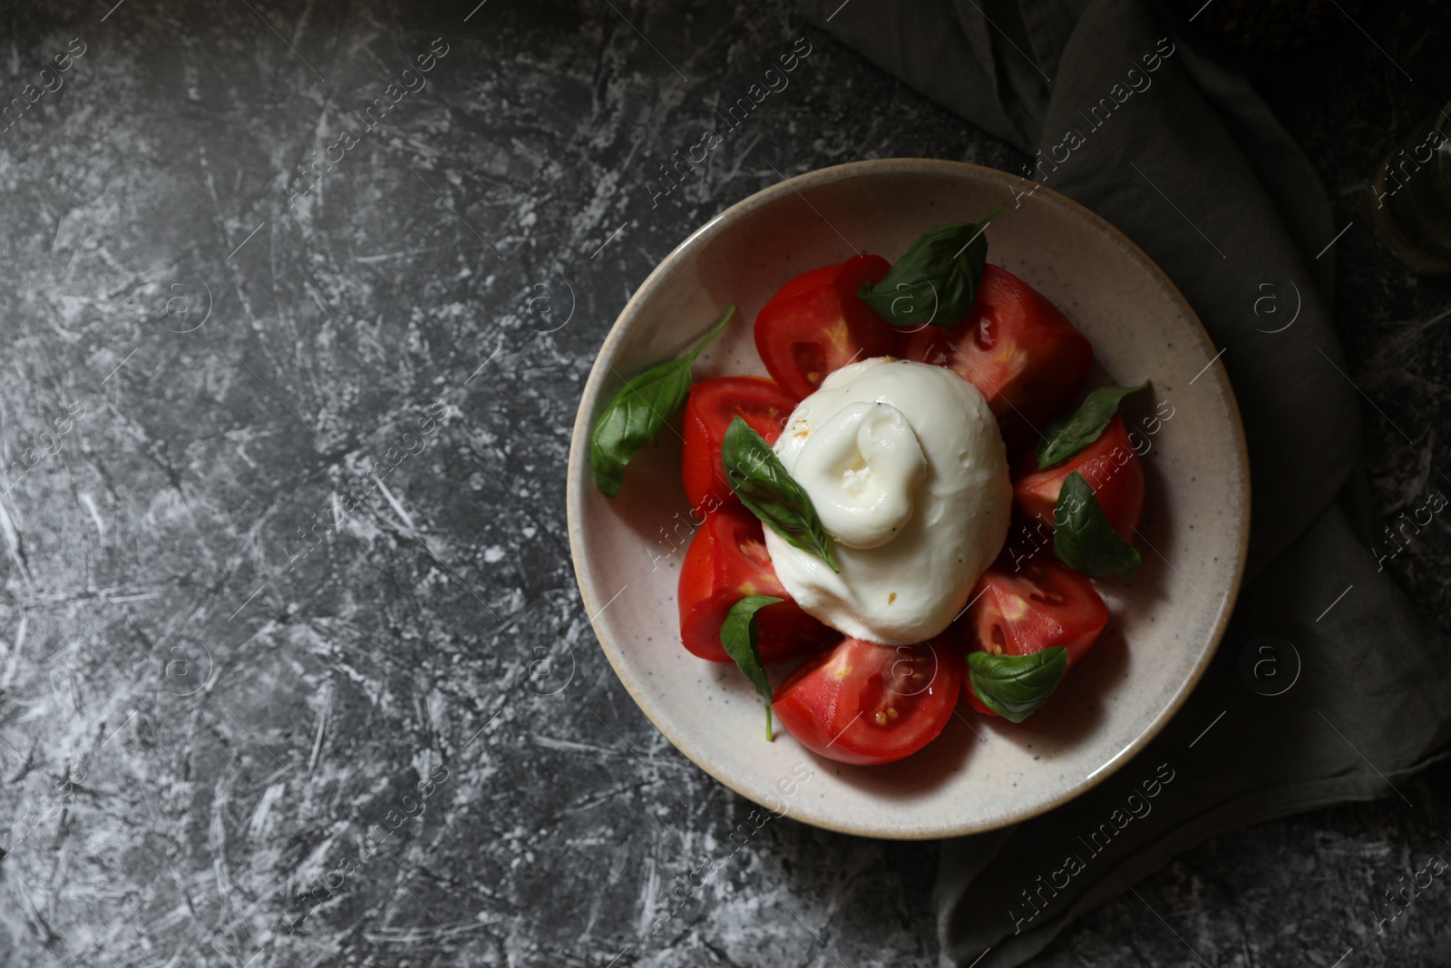
{"label": "large tomato wedge just right of and below the topmost basil leaf", "polygon": [[905,337],[903,356],[950,367],[978,387],[1011,447],[1068,408],[1088,377],[1093,344],[1037,290],[988,266],[966,321],[923,327]]}

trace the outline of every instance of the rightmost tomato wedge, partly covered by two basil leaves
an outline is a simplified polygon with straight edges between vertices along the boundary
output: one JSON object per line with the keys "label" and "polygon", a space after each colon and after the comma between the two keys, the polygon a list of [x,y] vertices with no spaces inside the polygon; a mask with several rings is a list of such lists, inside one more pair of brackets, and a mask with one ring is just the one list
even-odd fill
{"label": "rightmost tomato wedge, partly covered by two basil leaves", "polygon": [[1094,443],[1055,467],[1036,470],[1037,454],[1030,451],[1020,454],[1014,464],[1013,501],[1027,517],[1052,525],[1064,479],[1078,472],[1093,488],[1113,530],[1125,541],[1133,541],[1133,530],[1143,514],[1143,464],[1117,414]]}

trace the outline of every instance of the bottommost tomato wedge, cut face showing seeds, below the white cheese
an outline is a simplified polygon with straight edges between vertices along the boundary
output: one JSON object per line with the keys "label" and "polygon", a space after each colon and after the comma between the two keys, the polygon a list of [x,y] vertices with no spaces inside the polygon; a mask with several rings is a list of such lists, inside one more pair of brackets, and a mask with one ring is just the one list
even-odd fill
{"label": "bottommost tomato wedge, cut face showing seeds, below the white cheese", "polygon": [[962,686],[959,650],[843,639],[776,689],[772,711],[802,746],[842,763],[911,756],[948,724]]}

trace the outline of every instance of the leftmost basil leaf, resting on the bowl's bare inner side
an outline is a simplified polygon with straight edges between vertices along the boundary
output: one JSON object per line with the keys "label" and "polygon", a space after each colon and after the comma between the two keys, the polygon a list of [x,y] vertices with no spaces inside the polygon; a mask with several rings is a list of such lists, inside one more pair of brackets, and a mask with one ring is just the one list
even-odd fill
{"label": "leftmost basil leaf, resting on the bowl's bare inner side", "polygon": [[625,464],[641,447],[654,440],[672,417],[685,405],[691,392],[691,364],[705,344],[730,322],[736,306],[726,306],[720,321],[695,344],[686,356],[653,366],[625,385],[599,415],[589,438],[589,464],[595,469],[595,486],[607,498],[620,493],[625,482]]}

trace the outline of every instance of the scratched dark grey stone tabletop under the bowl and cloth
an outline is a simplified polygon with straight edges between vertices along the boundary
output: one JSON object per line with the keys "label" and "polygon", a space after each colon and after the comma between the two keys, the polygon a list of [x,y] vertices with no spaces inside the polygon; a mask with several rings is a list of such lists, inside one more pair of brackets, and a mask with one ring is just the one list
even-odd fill
{"label": "scratched dark grey stone tabletop under the bowl and cloth", "polygon": [[[933,845],[789,820],[651,936],[749,804],[601,655],[564,463],[611,322],[705,219],[842,161],[1019,158],[785,0],[474,4],[0,15],[0,965],[936,961]],[[1389,521],[1451,470],[1451,287],[1360,206],[1451,90],[1451,16],[1376,32],[1262,86],[1352,223]],[[1389,563],[1442,627],[1447,521]],[[1364,916],[1451,836],[1451,768],[1403,792],[1216,837],[1139,885],[1162,919],[1111,901],[1035,964],[1451,964],[1451,887]]]}

